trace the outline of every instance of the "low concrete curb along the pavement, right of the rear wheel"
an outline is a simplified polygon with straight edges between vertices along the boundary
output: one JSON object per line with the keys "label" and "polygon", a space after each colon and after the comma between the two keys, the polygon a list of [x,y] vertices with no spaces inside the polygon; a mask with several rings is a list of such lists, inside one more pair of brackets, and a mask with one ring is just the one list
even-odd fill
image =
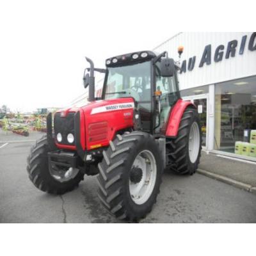
{"label": "low concrete curb along the pavement, right of the rear wheel", "polygon": [[232,185],[236,188],[244,189],[244,190],[246,190],[248,192],[251,192],[251,193],[256,195],[256,187],[253,187],[252,185],[245,184],[243,182],[239,182],[237,180],[230,179],[228,177],[225,177],[225,176],[222,176],[222,175],[219,175],[219,174],[216,174],[216,173],[208,172],[208,171],[205,171],[205,170],[202,170],[202,169],[197,169],[197,172],[202,174],[202,175],[205,175],[207,177],[210,177],[212,179],[216,179],[216,180],[220,180],[222,182],[225,182],[226,184]]}

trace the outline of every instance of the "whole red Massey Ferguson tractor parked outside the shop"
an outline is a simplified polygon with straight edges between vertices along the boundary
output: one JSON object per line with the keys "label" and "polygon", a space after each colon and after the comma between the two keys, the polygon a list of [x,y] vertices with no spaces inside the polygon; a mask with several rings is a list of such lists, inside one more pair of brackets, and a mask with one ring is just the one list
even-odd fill
{"label": "whole red Massey Ferguson tractor parked outside the shop", "polygon": [[[29,179],[42,191],[63,194],[84,174],[97,175],[104,207],[116,218],[137,221],[155,204],[164,169],[195,173],[202,140],[198,113],[180,99],[179,65],[167,52],[115,56],[106,69],[86,60],[88,104],[58,111],[53,126],[47,116],[47,136],[28,157]],[[100,98],[95,71],[105,73]]]}

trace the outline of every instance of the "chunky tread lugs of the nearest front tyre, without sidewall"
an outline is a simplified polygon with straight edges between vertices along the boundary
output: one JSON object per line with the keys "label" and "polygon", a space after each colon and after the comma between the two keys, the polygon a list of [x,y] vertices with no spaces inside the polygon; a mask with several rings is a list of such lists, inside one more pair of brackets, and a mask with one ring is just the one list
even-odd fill
{"label": "chunky tread lugs of the nearest front tyre, without sidewall", "polygon": [[[124,172],[127,172],[125,169],[127,157],[138,143],[142,143],[144,140],[154,140],[150,136],[150,134],[145,132],[137,131],[131,133],[125,132],[122,135],[116,134],[115,140],[111,141],[113,145],[110,145],[108,150],[104,151],[102,163],[98,165],[99,200],[111,214],[120,220],[136,221],[137,219],[143,218],[152,209],[151,206],[141,216],[134,216],[134,212],[127,206],[127,200],[124,197],[122,189]],[[113,150],[114,148],[115,150]],[[161,178],[159,185],[160,183]],[[158,193],[159,189],[157,189],[155,196]],[[156,198],[154,198],[153,202],[156,202]]]}

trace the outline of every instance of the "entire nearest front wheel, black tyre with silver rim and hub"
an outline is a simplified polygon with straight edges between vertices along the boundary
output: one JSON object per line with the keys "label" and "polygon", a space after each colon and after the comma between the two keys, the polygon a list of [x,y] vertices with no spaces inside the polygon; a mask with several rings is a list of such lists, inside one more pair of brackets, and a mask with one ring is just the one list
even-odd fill
{"label": "entire nearest front wheel, black tyre with silver rim and hub", "polygon": [[98,195],[111,214],[138,221],[156,203],[163,160],[154,138],[145,132],[118,134],[99,164]]}

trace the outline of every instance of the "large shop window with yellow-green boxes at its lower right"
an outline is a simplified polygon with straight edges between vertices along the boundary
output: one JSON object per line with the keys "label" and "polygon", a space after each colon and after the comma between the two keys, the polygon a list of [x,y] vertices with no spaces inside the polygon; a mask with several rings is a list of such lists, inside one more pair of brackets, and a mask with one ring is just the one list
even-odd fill
{"label": "large shop window with yellow-green boxes at its lower right", "polygon": [[256,157],[256,76],[216,84],[214,144]]}

